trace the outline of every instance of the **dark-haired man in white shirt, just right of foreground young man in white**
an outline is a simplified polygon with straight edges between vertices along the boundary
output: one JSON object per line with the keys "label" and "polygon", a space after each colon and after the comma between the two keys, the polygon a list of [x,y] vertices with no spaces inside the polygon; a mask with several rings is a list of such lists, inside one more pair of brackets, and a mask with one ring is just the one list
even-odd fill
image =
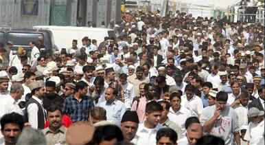
{"label": "dark-haired man in white shirt, just right of foreground young man in white", "polygon": [[179,93],[174,92],[170,94],[170,104],[168,118],[178,124],[178,126],[181,126],[181,135],[178,135],[178,138],[185,137],[185,121],[192,116],[192,113],[181,106],[181,95]]}

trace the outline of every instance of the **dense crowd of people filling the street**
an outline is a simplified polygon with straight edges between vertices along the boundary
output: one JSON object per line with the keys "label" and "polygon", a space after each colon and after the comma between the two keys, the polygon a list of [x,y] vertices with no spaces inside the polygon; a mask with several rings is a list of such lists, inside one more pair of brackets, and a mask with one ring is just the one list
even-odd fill
{"label": "dense crowd of people filling the street", "polygon": [[49,56],[0,48],[0,144],[264,144],[263,25],[127,10],[112,27]]}

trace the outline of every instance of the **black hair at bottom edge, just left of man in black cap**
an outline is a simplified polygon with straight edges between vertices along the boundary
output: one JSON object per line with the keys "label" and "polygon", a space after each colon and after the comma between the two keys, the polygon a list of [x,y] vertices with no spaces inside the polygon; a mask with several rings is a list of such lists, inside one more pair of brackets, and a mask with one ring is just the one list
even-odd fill
{"label": "black hair at bottom edge, just left of man in black cap", "polygon": [[104,140],[116,139],[117,142],[124,140],[121,129],[115,125],[97,126],[93,134],[93,144],[100,144]]}

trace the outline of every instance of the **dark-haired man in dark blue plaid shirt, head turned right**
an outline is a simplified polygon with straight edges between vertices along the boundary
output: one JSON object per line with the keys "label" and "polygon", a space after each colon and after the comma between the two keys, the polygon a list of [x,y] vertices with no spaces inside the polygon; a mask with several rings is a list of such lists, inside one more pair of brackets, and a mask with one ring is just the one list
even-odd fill
{"label": "dark-haired man in dark blue plaid shirt, head turned right", "polygon": [[87,121],[89,112],[93,109],[93,99],[87,96],[88,85],[84,81],[76,83],[73,96],[65,99],[62,112],[69,115],[73,122]]}

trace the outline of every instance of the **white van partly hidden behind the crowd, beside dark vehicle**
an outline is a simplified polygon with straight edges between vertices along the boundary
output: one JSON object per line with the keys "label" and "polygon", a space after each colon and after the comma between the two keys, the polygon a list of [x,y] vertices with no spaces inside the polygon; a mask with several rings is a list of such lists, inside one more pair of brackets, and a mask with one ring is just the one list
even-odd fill
{"label": "white van partly hidden behind the crowd, beside dark vehicle", "polygon": [[59,51],[62,48],[70,48],[73,39],[78,40],[78,47],[82,47],[82,38],[84,38],[84,36],[88,36],[91,40],[97,40],[97,45],[104,41],[105,36],[115,37],[113,30],[103,27],[38,25],[33,28],[38,30],[50,30],[54,36],[54,43]]}

